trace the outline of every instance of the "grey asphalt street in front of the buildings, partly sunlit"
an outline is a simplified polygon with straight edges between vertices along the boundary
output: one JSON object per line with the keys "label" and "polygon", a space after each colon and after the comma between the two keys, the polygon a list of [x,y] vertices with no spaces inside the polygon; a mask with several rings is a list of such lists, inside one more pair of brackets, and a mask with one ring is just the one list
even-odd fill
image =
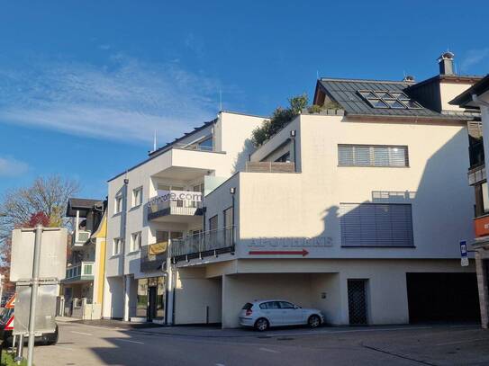
{"label": "grey asphalt street in front of the buildings, partly sunlit", "polygon": [[213,327],[128,329],[59,323],[59,344],[36,366],[487,365],[489,332],[475,325],[287,328],[265,334]]}

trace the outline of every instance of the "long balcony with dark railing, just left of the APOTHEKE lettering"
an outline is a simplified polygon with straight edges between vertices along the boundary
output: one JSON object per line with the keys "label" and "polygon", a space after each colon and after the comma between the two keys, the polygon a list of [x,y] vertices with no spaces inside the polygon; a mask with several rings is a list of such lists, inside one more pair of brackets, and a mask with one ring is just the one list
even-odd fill
{"label": "long balcony with dark railing, just left of the APOTHEKE lettering", "polygon": [[223,253],[234,253],[235,227],[205,231],[191,237],[173,239],[170,257],[174,263]]}

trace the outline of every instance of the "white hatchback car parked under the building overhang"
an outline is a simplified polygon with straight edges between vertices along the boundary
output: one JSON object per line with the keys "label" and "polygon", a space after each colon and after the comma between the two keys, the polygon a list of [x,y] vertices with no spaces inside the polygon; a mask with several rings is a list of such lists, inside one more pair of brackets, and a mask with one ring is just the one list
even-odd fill
{"label": "white hatchback car parked under the building overhang", "polygon": [[317,308],[301,308],[286,300],[255,300],[241,309],[240,326],[263,332],[270,326],[321,326],[324,316]]}

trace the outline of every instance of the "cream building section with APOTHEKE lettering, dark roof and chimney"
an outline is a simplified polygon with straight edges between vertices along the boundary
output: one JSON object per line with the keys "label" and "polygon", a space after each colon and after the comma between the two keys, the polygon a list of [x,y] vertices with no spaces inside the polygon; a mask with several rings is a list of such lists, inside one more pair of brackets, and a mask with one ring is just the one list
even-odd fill
{"label": "cream building section with APOTHEKE lettering, dark roof and chimney", "polygon": [[333,325],[478,319],[458,243],[473,237],[479,113],[448,102],[480,79],[445,53],[418,83],[318,80],[321,112],[255,149],[204,193],[202,226],[169,241],[168,322],[239,326],[253,299],[320,308]]}

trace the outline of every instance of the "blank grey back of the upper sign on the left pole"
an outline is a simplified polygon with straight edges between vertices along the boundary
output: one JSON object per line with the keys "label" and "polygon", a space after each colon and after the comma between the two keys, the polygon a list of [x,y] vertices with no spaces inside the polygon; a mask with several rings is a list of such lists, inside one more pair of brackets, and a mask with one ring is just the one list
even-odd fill
{"label": "blank grey back of the upper sign on the left pole", "polygon": [[[35,231],[33,229],[17,228],[12,231],[10,281],[16,282],[32,278],[34,238]],[[66,228],[42,229],[40,278],[63,280],[66,277],[67,239]]]}

